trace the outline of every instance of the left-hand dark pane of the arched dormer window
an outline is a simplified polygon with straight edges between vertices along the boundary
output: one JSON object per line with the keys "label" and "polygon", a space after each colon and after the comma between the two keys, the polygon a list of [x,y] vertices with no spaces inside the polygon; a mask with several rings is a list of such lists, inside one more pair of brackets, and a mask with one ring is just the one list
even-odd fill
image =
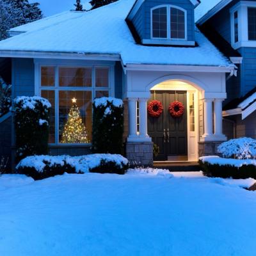
{"label": "left-hand dark pane of the arched dormer window", "polygon": [[152,11],[152,35],[155,38],[167,38],[167,8]]}

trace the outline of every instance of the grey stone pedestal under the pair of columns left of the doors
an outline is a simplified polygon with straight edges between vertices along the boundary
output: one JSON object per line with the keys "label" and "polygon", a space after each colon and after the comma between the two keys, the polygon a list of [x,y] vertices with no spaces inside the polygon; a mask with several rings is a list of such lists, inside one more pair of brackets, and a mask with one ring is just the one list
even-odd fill
{"label": "grey stone pedestal under the pair of columns left of the doors", "polygon": [[153,165],[153,143],[152,142],[127,142],[126,157],[131,166]]}

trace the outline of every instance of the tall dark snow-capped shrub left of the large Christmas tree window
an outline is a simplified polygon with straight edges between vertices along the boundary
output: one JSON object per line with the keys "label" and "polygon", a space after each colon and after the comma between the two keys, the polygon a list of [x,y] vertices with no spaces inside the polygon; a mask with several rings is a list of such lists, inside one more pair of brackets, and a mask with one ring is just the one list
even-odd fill
{"label": "tall dark snow-capped shrub left of the large Christmas tree window", "polygon": [[41,97],[17,97],[13,102],[17,160],[48,153],[51,104]]}

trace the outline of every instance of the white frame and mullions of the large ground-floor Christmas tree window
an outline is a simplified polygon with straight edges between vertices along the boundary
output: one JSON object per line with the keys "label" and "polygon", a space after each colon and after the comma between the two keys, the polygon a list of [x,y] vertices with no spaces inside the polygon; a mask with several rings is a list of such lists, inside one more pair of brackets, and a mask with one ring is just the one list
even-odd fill
{"label": "white frame and mullions of the large ground-floor Christmas tree window", "polygon": [[[60,91],[76,91],[76,92],[92,92],[92,102],[95,99],[96,91],[108,91],[109,97],[115,97],[115,64],[107,63],[102,65],[100,62],[87,61],[62,61],[62,60],[36,60],[35,63],[35,95],[41,96],[42,90],[54,90],[55,92],[55,143],[49,143],[51,146],[67,147],[67,146],[79,146],[86,147],[92,145],[91,143],[60,143],[59,141],[59,93]],[[55,84],[54,86],[41,86],[41,67],[55,67]],[[66,87],[58,86],[59,82],[59,68],[60,67],[77,67],[77,68],[92,68],[92,87]],[[109,87],[96,87],[95,85],[95,68],[109,68]]]}

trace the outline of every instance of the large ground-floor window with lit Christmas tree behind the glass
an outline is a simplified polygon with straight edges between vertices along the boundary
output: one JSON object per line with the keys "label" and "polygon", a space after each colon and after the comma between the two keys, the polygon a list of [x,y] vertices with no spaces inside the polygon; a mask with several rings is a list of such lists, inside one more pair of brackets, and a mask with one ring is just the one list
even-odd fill
{"label": "large ground-floor window with lit Christmas tree behind the glass", "polygon": [[110,70],[110,67],[40,67],[40,95],[52,105],[49,143],[92,141],[92,102],[98,97],[109,97]]}

